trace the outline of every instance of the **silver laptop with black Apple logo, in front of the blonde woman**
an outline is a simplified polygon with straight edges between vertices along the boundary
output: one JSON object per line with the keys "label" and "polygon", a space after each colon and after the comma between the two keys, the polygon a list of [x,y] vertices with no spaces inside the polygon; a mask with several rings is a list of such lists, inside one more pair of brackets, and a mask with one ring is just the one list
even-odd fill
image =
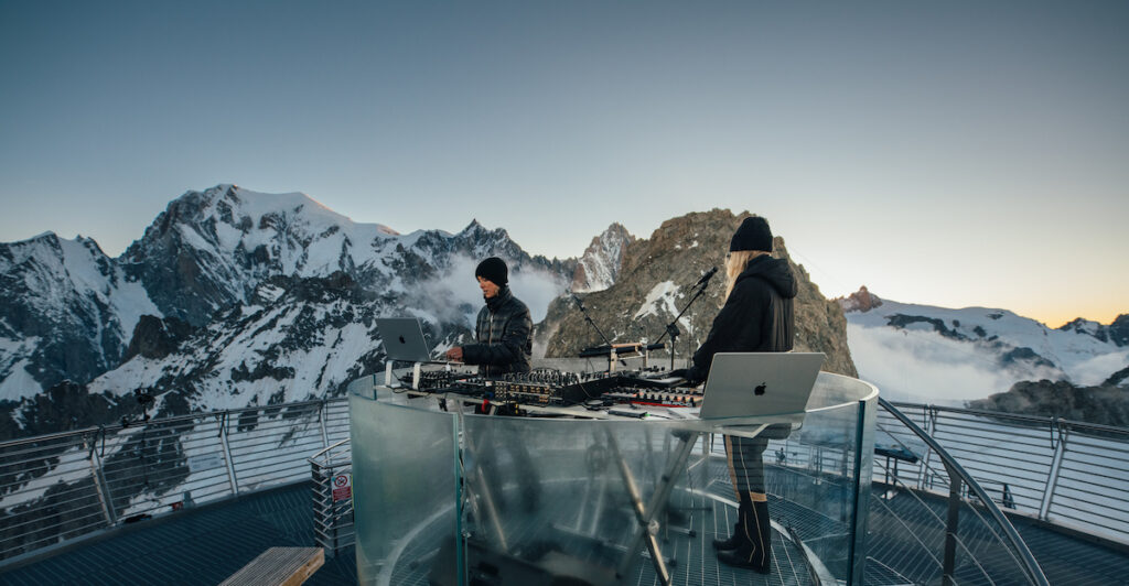
{"label": "silver laptop with black Apple logo, in front of the blonde woman", "polygon": [[699,416],[802,415],[823,358],[823,353],[715,354]]}

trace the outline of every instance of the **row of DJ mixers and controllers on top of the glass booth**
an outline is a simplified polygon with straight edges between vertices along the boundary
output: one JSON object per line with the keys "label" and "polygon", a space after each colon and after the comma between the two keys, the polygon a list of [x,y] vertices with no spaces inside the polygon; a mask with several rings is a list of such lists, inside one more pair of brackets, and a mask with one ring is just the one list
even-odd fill
{"label": "row of DJ mixers and controllers on top of the glass booth", "polygon": [[[404,381],[411,384],[412,375]],[[681,385],[680,385],[681,383]],[[500,403],[607,407],[650,405],[700,407],[702,391],[656,367],[620,372],[561,372],[539,369],[497,379],[475,374],[425,371],[415,389],[427,393],[457,393]]]}

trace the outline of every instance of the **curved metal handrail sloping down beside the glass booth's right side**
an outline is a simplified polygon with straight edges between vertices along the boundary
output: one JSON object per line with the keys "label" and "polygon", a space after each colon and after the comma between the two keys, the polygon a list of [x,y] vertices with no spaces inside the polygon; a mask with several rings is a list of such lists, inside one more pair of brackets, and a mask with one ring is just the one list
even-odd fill
{"label": "curved metal handrail sloping down beside the glass booth's right side", "polygon": [[879,405],[877,437],[890,443],[876,449],[868,559],[913,584],[1048,584],[1015,527],[961,463],[896,407]]}

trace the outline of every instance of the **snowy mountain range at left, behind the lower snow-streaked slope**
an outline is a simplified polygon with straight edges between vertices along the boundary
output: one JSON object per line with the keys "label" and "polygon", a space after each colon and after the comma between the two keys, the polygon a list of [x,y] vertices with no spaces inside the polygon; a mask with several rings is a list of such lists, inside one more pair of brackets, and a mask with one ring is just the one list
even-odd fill
{"label": "snowy mountain range at left, behind the lower snow-streaked slope", "polygon": [[[60,384],[87,388],[139,356],[167,356],[182,338],[229,319],[234,308],[263,302],[264,291],[325,287],[306,286],[301,279],[308,278],[379,291],[358,305],[422,317],[435,325],[436,339],[450,344],[448,338],[466,335],[478,311],[473,265],[483,256],[506,258],[511,278],[545,303],[567,288],[575,270],[575,260],[530,256],[504,229],[489,230],[478,220],[456,233],[400,234],[383,224],[353,223],[304,194],[275,196],[227,184],[169,202],[116,259],[82,237],[49,232],[3,243],[0,402],[16,414],[21,401],[34,407],[35,396]],[[365,344],[378,347],[375,330],[369,334]],[[130,384],[120,390],[146,385]],[[14,415],[25,416],[34,414]]]}

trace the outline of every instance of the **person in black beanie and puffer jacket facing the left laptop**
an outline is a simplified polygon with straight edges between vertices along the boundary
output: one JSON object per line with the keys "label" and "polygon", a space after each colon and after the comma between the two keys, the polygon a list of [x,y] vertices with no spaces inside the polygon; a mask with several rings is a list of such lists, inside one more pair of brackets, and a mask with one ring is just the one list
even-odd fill
{"label": "person in black beanie and puffer jacket facing the left laptop", "polygon": [[479,374],[496,378],[510,372],[530,372],[533,354],[533,319],[530,308],[509,290],[509,267],[490,257],[474,269],[487,305],[479,311],[476,344],[447,350],[447,359],[474,364]]}

